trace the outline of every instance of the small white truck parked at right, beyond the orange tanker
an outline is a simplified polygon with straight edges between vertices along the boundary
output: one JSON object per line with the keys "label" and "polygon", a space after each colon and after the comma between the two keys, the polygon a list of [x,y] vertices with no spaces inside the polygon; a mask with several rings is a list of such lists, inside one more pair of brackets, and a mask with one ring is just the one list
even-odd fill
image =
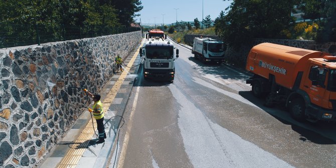
{"label": "small white truck parked at right, beyond the orange tanker", "polygon": [[192,54],[202,62],[224,62],[226,44],[211,38],[195,38]]}

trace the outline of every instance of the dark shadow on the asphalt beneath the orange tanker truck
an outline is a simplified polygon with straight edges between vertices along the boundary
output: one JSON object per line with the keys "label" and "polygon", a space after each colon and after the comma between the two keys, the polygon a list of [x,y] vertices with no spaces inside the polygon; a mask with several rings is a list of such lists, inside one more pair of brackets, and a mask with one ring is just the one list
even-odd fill
{"label": "dark shadow on the asphalt beneath the orange tanker truck", "polygon": [[250,91],[239,91],[239,95],[266,111],[280,122],[291,125],[292,130],[301,135],[300,140],[317,144],[336,144],[335,123],[322,121],[317,123],[308,121],[298,122],[290,117],[284,105],[278,105],[274,108],[265,107],[263,105],[264,101],[255,98]]}

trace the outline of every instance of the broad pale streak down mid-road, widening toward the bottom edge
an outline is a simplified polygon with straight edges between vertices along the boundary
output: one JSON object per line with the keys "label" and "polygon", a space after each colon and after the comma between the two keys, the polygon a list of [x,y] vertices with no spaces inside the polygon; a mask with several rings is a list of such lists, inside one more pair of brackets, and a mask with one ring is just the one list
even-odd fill
{"label": "broad pale streak down mid-road, widening toward the bottom edge", "polygon": [[185,151],[194,167],[292,167],[257,145],[213,123],[175,85],[180,103],[178,125]]}

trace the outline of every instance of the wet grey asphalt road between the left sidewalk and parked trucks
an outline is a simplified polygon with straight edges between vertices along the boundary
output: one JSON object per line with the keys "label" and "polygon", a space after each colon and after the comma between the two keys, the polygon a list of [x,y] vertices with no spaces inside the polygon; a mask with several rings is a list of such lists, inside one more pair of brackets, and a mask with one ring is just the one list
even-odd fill
{"label": "wet grey asphalt road between the left sidewalk and parked trucks", "polygon": [[145,81],[139,69],[119,167],[336,167],[335,124],[300,123],[281,106],[264,107],[248,74],[175,46],[174,83]]}

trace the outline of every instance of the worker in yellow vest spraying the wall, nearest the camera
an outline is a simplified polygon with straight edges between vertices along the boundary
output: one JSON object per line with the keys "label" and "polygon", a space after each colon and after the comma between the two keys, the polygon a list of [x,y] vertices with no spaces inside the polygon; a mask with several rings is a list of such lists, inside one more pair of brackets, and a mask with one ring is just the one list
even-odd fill
{"label": "worker in yellow vest spraying the wall, nearest the camera", "polygon": [[92,112],[93,117],[97,121],[97,129],[98,129],[98,138],[99,140],[96,141],[96,143],[103,143],[105,142],[106,133],[105,133],[105,126],[104,126],[104,111],[103,111],[103,104],[100,101],[100,95],[99,94],[92,94],[88,90],[84,89],[84,91],[92,97],[94,104],[92,106],[92,109],[89,108],[89,112]]}

